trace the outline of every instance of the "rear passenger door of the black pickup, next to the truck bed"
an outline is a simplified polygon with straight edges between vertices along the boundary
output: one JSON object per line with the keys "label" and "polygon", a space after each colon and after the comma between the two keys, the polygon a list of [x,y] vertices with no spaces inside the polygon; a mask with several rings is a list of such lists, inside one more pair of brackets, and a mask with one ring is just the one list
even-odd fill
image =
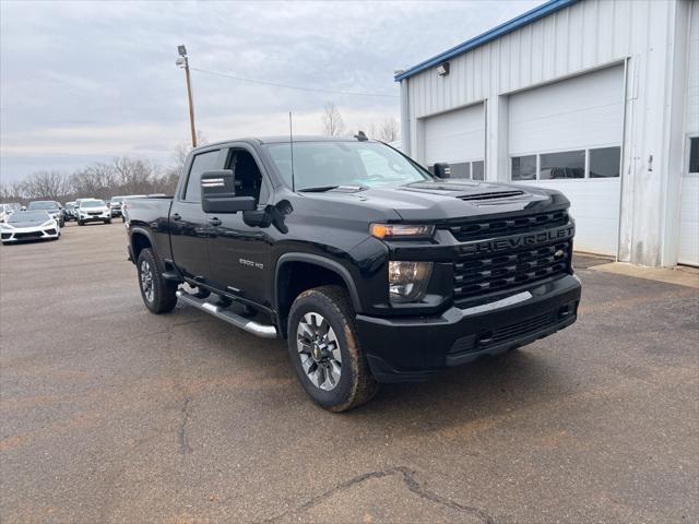
{"label": "rear passenger door of the black pickup, next to the truck bed", "polygon": [[188,165],[187,180],[181,183],[173,200],[169,229],[173,260],[187,277],[208,284],[211,275],[209,264],[209,239],[212,226],[201,209],[201,175],[221,169],[222,150],[213,148],[198,153]]}

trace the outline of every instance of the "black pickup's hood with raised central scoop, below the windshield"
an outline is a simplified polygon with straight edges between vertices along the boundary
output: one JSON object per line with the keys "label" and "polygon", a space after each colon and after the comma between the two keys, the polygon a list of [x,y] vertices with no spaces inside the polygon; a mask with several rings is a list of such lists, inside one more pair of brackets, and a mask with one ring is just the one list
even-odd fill
{"label": "black pickup's hood with raised central scoop, below the windshield", "polygon": [[544,212],[569,205],[560,192],[533,186],[472,180],[426,180],[369,189],[337,188],[306,193],[312,199],[393,210],[405,222],[443,222],[501,213]]}

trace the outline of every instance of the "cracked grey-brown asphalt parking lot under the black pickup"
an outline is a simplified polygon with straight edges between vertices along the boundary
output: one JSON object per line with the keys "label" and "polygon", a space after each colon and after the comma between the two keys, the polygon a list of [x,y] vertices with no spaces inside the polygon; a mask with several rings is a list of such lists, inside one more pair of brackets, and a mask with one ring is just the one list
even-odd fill
{"label": "cracked grey-brown asphalt parking lot under the black pickup", "polygon": [[699,519],[697,289],[581,269],[571,329],[335,415],[281,342],[149,313],[120,222],[0,265],[3,523]]}

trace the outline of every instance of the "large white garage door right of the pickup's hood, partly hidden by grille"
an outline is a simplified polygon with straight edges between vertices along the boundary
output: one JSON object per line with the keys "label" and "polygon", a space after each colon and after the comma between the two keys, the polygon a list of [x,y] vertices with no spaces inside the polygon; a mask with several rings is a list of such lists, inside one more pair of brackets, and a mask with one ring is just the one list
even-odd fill
{"label": "large white garage door right of the pickup's hood, partly hidden by grille", "polygon": [[510,97],[511,179],[568,196],[581,251],[617,254],[623,99],[620,66]]}

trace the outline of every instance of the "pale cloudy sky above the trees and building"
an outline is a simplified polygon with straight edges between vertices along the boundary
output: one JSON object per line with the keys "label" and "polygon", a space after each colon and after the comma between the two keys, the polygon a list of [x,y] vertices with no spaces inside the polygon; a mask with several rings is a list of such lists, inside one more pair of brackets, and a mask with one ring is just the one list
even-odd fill
{"label": "pale cloudy sky above the trees and building", "polygon": [[0,0],[0,181],[120,155],[173,164],[189,136],[180,44],[209,142],[285,134],[288,111],[319,134],[328,102],[356,131],[400,118],[395,69],[540,3]]}

